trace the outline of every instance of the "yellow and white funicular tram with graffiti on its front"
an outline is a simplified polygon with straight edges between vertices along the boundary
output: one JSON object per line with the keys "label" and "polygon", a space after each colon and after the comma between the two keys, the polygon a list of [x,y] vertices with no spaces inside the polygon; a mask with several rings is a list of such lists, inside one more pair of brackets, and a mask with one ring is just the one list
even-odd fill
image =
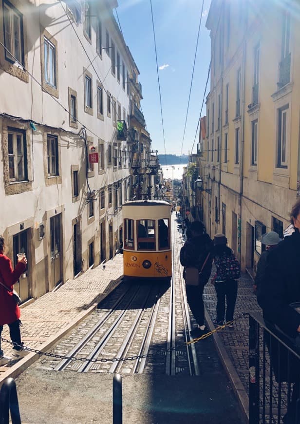
{"label": "yellow and white funicular tram with graffiti on its front", "polygon": [[172,276],[171,205],[132,200],[123,207],[124,279]]}

